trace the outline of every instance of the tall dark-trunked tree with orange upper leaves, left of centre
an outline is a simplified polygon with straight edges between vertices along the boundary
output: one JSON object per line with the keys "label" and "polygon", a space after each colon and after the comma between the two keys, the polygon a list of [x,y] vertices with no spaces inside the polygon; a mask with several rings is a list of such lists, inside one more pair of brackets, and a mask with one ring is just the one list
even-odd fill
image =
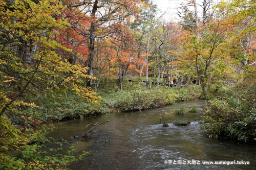
{"label": "tall dark-trunked tree with orange upper leaves, left of centre", "polygon": [[[132,1],[86,1],[86,2],[67,2],[68,8],[80,7],[84,16],[89,20],[89,28],[73,27],[76,31],[88,37],[88,51],[87,59],[88,75],[93,77],[94,72],[94,58],[95,58],[95,39],[109,37],[113,33],[113,27],[116,24],[121,24],[122,20],[130,15],[137,17],[137,6],[146,1],[132,0]],[[117,23],[119,21],[119,23]],[[87,86],[92,87],[92,79],[89,78]]]}

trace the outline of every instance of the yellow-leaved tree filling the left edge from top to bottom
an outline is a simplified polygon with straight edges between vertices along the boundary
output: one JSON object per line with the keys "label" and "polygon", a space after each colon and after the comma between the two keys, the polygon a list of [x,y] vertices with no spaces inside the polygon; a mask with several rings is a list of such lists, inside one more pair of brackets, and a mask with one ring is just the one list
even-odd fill
{"label": "yellow-leaved tree filling the left edge from top to bottom", "polygon": [[[49,152],[42,150],[44,143],[50,142],[43,136],[44,130],[21,132],[7,117],[7,113],[15,114],[27,107],[39,107],[23,100],[25,95],[36,95],[38,91],[56,97],[56,92],[72,89],[85,101],[98,102],[95,92],[81,86],[82,80],[87,78],[83,74],[86,68],[72,65],[57,54],[59,51],[72,53],[53,40],[60,30],[70,26],[60,17],[63,9],[61,2],[54,1],[35,3],[24,0],[13,4],[0,1],[1,169],[66,169],[70,162],[87,154],[72,156],[74,145],[70,148],[72,151],[61,154],[62,143],[56,142],[59,148],[51,148],[50,151],[55,154],[48,156]],[[6,154],[13,150],[22,157]]]}

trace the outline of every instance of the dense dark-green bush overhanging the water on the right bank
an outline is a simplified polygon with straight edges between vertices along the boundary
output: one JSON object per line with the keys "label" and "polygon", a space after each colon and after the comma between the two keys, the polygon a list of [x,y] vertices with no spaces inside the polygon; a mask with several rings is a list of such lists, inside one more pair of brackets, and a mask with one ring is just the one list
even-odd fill
{"label": "dense dark-green bush overhanging the water on the right bank", "polygon": [[[243,86],[243,89],[239,88]],[[242,141],[255,140],[256,131],[256,86],[254,80],[237,84],[221,99],[210,102],[204,113],[203,129],[215,138],[231,138]]]}

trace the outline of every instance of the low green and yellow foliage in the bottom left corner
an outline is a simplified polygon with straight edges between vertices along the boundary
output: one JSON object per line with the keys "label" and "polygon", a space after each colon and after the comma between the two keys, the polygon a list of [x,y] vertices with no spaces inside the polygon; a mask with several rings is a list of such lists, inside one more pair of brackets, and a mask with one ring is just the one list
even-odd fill
{"label": "low green and yellow foliage in the bottom left corner", "polygon": [[[71,162],[89,154],[82,152],[74,156],[74,144],[69,145],[65,140],[51,142],[46,139],[44,126],[37,132],[32,129],[27,131],[30,133],[20,132],[4,115],[0,116],[0,169],[67,169]],[[57,149],[46,150],[46,143],[50,142],[56,145]],[[63,145],[68,145],[67,151],[62,150]],[[15,151],[19,156],[12,156],[7,151]]]}

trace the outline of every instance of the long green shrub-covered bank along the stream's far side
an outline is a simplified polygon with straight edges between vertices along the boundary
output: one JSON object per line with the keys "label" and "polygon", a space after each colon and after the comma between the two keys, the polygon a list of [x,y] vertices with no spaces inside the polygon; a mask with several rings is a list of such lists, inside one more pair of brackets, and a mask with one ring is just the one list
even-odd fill
{"label": "long green shrub-covered bank along the stream's far side", "polygon": [[123,90],[119,89],[116,79],[102,80],[98,95],[102,97],[100,105],[86,103],[74,92],[45,94],[33,92],[36,95],[24,95],[24,101],[35,103],[36,107],[16,108],[18,111],[7,115],[16,126],[37,126],[63,119],[82,118],[90,115],[105,114],[118,111],[135,111],[158,108],[177,101],[203,99],[200,86],[191,92],[188,87],[152,86],[145,90],[141,82],[124,82]]}

